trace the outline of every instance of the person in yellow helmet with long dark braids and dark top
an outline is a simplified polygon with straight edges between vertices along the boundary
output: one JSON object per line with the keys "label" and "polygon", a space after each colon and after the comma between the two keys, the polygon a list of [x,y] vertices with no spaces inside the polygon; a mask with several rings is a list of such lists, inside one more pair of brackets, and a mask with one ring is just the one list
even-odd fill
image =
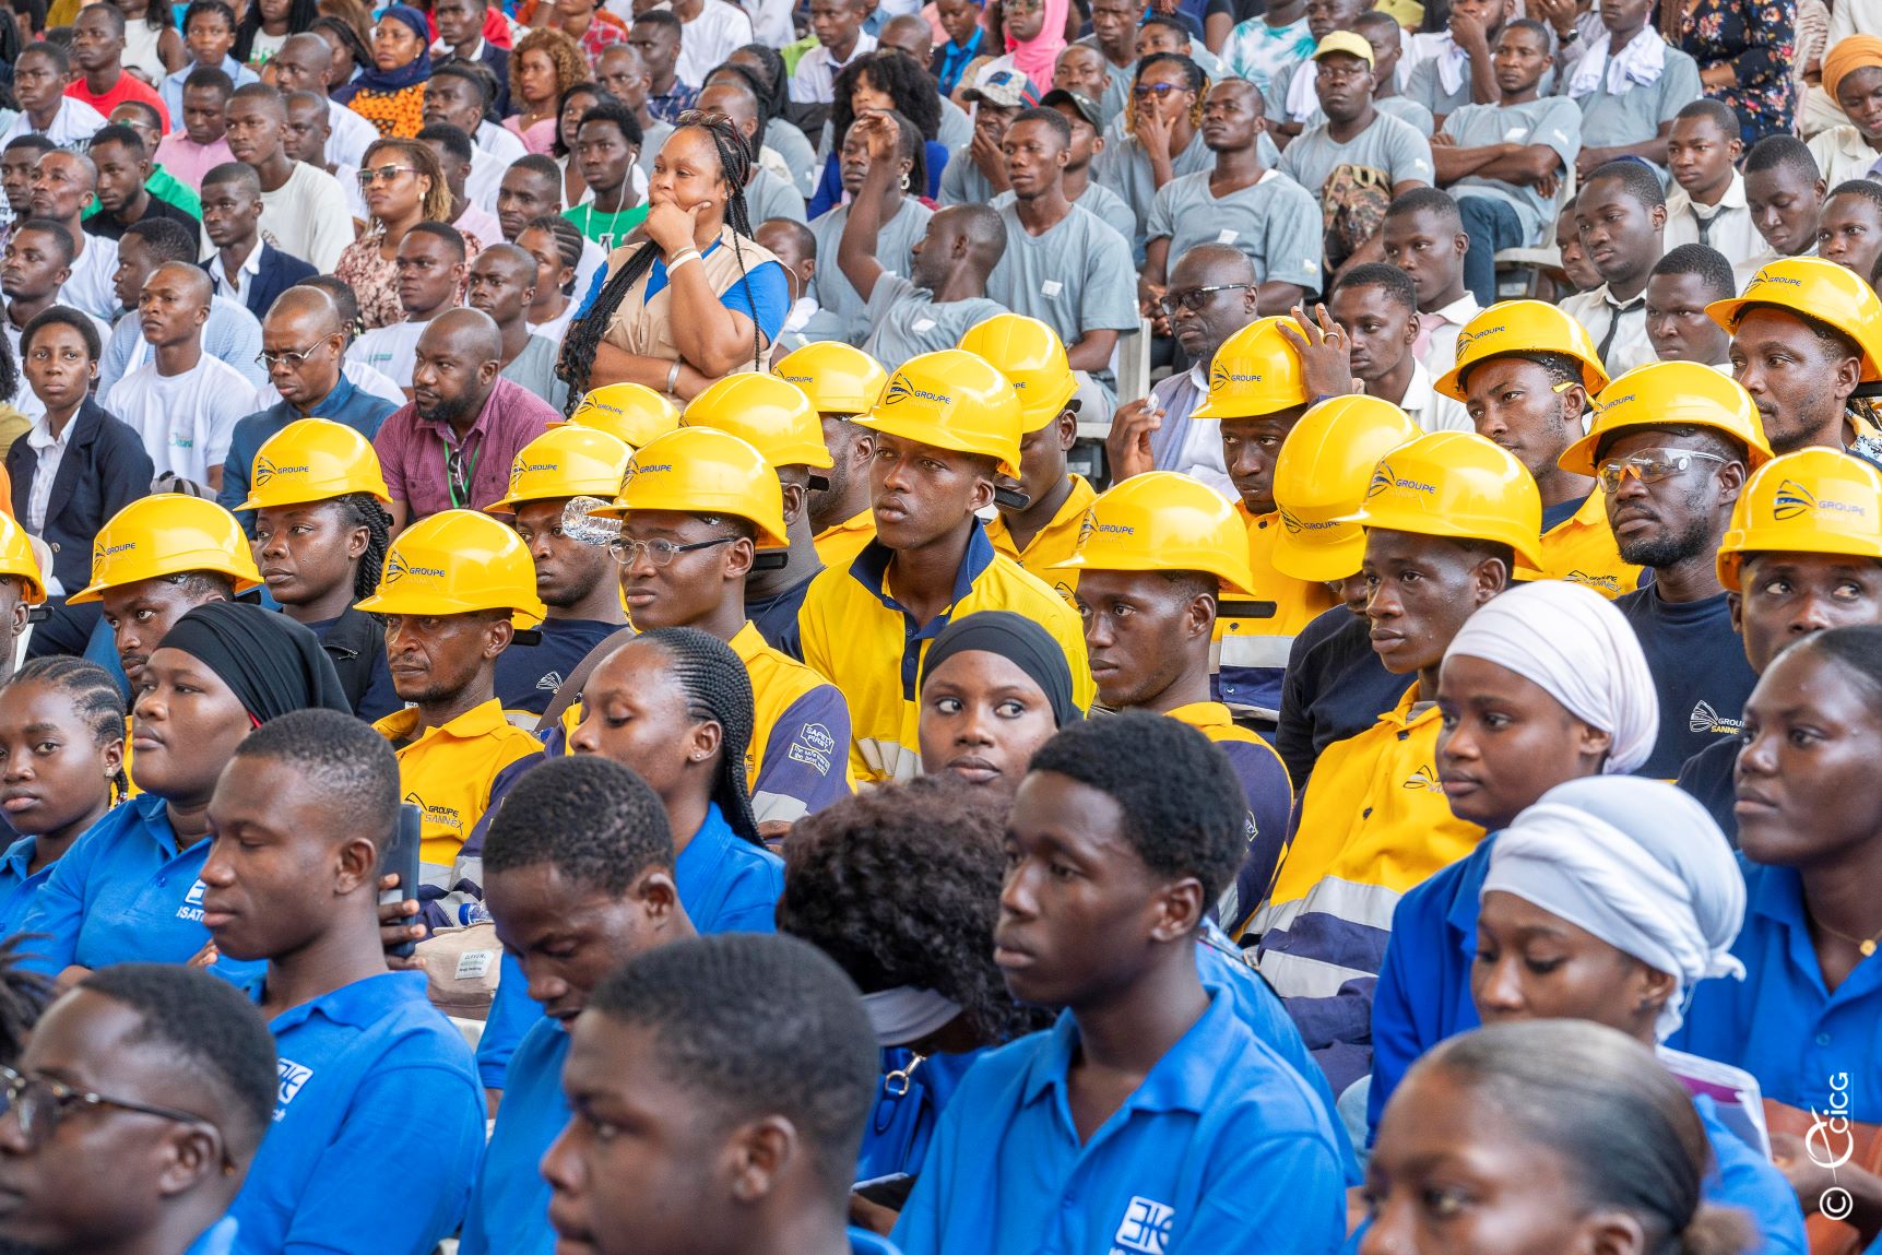
{"label": "person in yellow helmet with long dark braids and dark top", "polygon": [[373,442],[352,427],[303,418],[254,455],[254,559],[282,612],[320,638],[361,719],[405,702],[386,668],[384,625],[358,610],[378,587],[391,517]]}

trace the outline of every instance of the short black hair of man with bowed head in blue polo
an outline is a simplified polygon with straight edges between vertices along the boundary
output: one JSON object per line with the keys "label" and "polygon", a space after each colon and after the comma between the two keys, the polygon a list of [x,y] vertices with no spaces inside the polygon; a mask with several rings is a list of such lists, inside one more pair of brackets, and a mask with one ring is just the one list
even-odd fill
{"label": "short black hair of man with bowed head in blue polo", "polygon": [[486,875],[538,864],[619,898],[647,867],[672,869],[666,807],[619,762],[550,758],[504,794],[484,835]]}

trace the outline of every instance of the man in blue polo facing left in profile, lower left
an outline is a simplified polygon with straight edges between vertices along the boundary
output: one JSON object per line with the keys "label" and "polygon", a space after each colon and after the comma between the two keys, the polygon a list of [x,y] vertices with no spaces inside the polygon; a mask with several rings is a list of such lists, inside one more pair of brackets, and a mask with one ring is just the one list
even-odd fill
{"label": "man in blue polo facing left in profile, lower left", "polygon": [[275,1121],[230,1214],[237,1255],[429,1255],[457,1231],[484,1152],[470,1048],[388,971],[378,860],[399,760],[371,724],[301,709],[256,728],[209,802],[203,924],[267,960],[250,990],[275,1035]]}

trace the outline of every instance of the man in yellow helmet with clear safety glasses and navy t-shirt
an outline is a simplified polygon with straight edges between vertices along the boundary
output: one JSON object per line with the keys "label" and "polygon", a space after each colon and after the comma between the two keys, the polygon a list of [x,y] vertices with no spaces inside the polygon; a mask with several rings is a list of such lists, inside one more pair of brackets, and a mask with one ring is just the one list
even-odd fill
{"label": "man in yellow helmet with clear safety glasses and navy t-shirt", "polygon": [[1694,361],[1628,371],[1594,405],[1594,427],[1562,467],[1600,476],[1620,557],[1647,568],[1645,587],[1615,606],[1660,691],[1660,736],[1639,775],[1673,779],[1686,758],[1739,732],[1758,683],[1716,553],[1731,502],[1771,448],[1745,389]]}

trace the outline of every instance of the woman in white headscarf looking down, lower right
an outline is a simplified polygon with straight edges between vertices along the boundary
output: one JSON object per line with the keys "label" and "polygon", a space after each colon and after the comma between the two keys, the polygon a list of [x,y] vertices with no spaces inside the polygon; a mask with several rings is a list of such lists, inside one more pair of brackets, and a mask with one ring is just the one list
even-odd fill
{"label": "woman in white headscarf looking down, lower right", "polygon": [[[1592,1020],[1658,1046],[1699,980],[1745,977],[1731,954],[1745,875],[1705,807],[1660,781],[1551,788],[1498,834],[1479,903],[1470,986],[1485,1024]],[[1752,1133],[1762,1108],[1756,1125],[1722,1114],[1698,1084],[1722,1065],[1660,1059],[1694,1089],[1713,1144],[1707,1200],[1748,1212],[1769,1255],[1803,1255],[1797,1195]]]}

